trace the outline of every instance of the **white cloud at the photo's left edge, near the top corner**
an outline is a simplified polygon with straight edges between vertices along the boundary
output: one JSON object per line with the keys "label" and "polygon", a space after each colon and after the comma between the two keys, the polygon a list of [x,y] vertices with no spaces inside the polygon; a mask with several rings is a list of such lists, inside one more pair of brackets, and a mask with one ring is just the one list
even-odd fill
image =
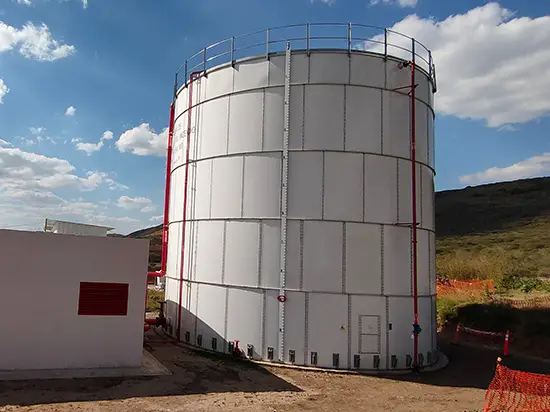
{"label": "white cloud at the photo's left edge, near the top corner", "polygon": [[0,21],[0,52],[12,49],[17,49],[28,59],[40,61],[54,61],[76,52],[74,46],[55,40],[45,24],[37,27],[29,22],[16,29]]}

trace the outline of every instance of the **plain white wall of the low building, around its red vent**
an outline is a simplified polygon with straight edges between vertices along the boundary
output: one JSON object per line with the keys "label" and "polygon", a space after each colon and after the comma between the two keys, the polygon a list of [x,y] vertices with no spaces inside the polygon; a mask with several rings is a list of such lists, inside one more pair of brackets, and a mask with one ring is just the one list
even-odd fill
{"label": "plain white wall of the low building, around its red vent", "polygon": [[[141,364],[149,242],[0,230],[0,369]],[[127,316],[79,316],[80,282],[128,283]]]}

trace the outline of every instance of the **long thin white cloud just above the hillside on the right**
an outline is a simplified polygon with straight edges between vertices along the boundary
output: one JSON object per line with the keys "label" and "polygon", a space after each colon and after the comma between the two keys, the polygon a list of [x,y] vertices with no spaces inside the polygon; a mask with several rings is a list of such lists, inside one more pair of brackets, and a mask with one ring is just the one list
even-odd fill
{"label": "long thin white cloud just above the hillside on the right", "polygon": [[480,184],[529,177],[548,176],[550,174],[550,153],[533,156],[507,167],[491,167],[483,172],[461,176],[463,184]]}

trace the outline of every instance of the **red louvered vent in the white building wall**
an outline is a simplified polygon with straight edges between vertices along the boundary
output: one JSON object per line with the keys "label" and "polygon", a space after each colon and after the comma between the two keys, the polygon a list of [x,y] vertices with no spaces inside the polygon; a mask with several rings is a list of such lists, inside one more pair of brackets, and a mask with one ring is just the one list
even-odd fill
{"label": "red louvered vent in the white building wall", "polygon": [[83,316],[126,316],[128,283],[80,282],[78,314]]}

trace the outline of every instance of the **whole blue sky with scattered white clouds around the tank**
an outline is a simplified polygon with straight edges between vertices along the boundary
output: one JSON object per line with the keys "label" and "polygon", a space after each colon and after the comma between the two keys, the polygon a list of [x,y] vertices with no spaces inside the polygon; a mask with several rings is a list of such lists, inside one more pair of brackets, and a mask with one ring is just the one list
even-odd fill
{"label": "whole blue sky with scattered white clouds around the tank", "polygon": [[550,175],[549,16],[546,0],[0,0],[0,227],[160,223],[175,70],[293,23],[393,27],[432,49],[438,190]]}

